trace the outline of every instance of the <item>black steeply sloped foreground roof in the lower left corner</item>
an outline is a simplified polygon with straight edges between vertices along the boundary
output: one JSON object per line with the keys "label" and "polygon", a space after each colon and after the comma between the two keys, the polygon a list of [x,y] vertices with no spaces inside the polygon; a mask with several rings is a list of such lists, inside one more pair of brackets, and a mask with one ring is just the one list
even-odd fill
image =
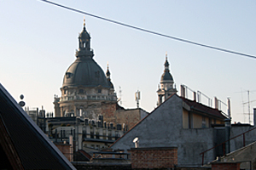
{"label": "black steeply sloped foreground roof in the lower left corner", "polygon": [[24,169],[75,169],[1,83],[0,118]]}

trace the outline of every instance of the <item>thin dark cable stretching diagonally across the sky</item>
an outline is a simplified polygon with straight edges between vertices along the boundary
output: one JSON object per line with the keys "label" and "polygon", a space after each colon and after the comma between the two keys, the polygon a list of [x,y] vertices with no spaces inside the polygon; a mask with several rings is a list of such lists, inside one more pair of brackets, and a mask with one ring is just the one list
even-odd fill
{"label": "thin dark cable stretching diagonally across the sky", "polygon": [[126,26],[126,27],[129,27],[129,28],[138,30],[138,31],[148,32],[150,34],[154,34],[154,35],[157,35],[157,36],[160,36],[160,37],[172,38],[172,39],[177,40],[179,42],[186,42],[186,43],[194,44],[194,45],[201,46],[201,47],[204,47],[204,48],[212,48],[212,49],[222,51],[222,52],[225,52],[225,53],[237,54],[237,55],[241,55],[241,56],[244,56],[244,57],[249,57],[249,58],[256,59],[256,56],[253,56],[253,55],[250,55],[250,54],[243,54],[243,53],[239,53],[239,52],[232,51],[232,50],[229,50],[229,49],[213,47],[213,46],[202,44],[202,43],[199,43],[199,42],[193,42],[193,41],[185,40],[183,38],[168,36],[168,35],[156,32],[156,31],[150,31],[150,30],[146,30],[146,29],[143,29],[143,28],[140,28],[140,27],[137,27],[137,26],[131,26],[131,25],[128,25],[128,24],[125,24],[125,23],[122,23],[122,22],[119,22],[119,21],[116,21],[116,20],[110,20],[110,19],[107,19],[107,18],[104,18],[104,17],[101,17],[101,16],[97,16],[95,14],[89,14],[89,13],[86,13],[86,12],[81,11],[79,9],[70,8],[70,7],[61,5],[59,3],[50,2],[48,0],[40,0],[40,1],[43,1],[44,3],[50,3],[52,5],[55,5],[55,6],[58,6],[58,7],[61,7],[61,8],[67,8],[68,10],[72,10],[72,11],[80,13],[80,14],[86,14],[86,15],[89,15],[91,17],[94,17],[94,18],[97,18],[97,19],[100,19],[100,20],[106,20],[108,22],[112,22],[112,23],[120,25],[120,26]]}

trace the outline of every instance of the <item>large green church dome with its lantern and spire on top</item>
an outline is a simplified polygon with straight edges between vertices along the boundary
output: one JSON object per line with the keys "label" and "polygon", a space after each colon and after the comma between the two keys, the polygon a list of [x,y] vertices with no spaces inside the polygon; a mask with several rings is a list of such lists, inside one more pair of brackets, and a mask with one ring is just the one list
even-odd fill
{"label": "large green church dome with its lantern and spire on top", "polygon": [[93,50],[90,48],[90,34],[85,29],[79,34],[79,50],[76,52],[77,59],[67,69],[62,87],[98,87],[111,88],[102,68],[93,59]]}

